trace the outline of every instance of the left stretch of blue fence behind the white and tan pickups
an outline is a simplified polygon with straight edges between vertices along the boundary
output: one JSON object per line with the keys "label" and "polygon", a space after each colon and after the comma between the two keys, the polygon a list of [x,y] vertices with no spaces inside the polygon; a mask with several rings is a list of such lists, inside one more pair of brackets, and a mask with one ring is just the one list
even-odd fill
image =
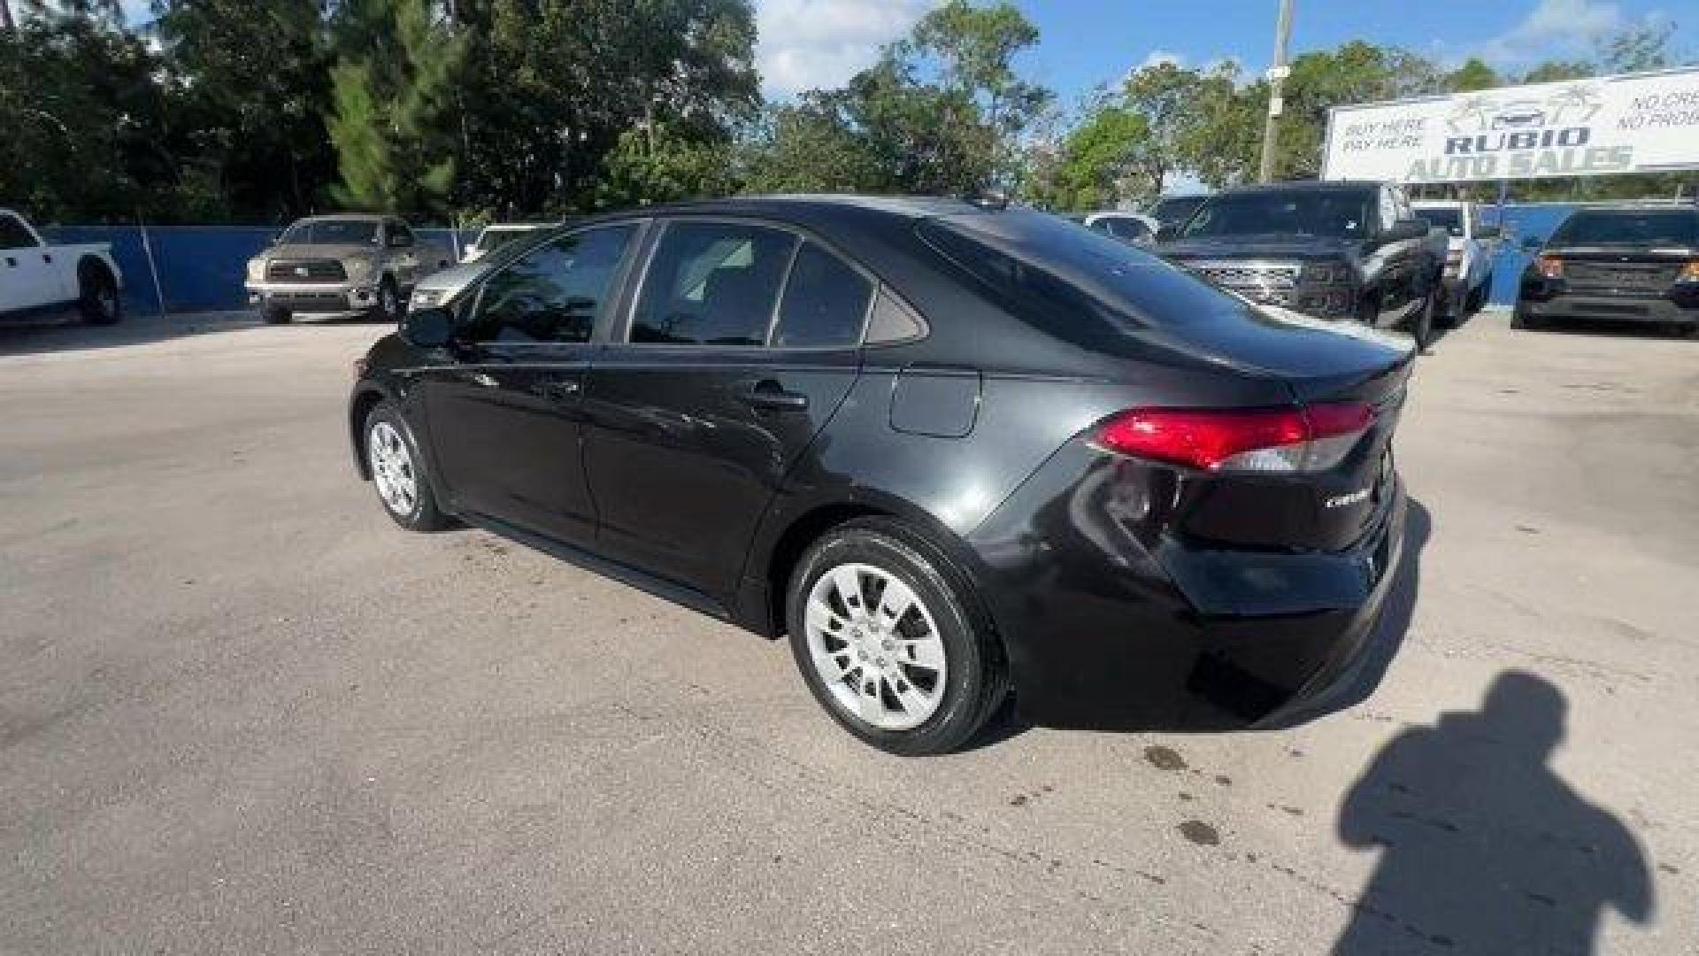
{"label": "left stretch of blue fence behind the white and tan pickups", "polygon": [[[124,308],[131,313],[217,311],[248,308],[241,287],[250,259],[270,245],[280,228],[251,226],[51,226],[51,243],[104,242],[124,272]],[[459,250],[462,233],[415,230],[443,248]],[[148,252],[153,252],[153,267]],[[153,276],[158,272],[158,286]]]}

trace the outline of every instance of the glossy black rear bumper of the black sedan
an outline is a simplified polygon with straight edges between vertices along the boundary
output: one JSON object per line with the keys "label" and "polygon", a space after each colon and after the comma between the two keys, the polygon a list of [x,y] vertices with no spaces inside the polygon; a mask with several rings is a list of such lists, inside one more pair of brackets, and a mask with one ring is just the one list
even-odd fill
{"label": "glossy black rear bumper of the black sedan", "polygon": [[1351,674],[1397,573],[1407,500],[1390,483],[1371,529],[1330,553],[1140,541],[1081,521],[1092,510],[992,515],[970,538],[1021,716],[1211,731],[1279,721]]}

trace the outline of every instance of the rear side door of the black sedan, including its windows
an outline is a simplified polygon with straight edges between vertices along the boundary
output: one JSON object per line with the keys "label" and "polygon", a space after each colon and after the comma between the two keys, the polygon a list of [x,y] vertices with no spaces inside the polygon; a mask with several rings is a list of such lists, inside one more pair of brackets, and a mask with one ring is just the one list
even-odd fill
{"label": "rear side door of the black sedan, including its windows", "polygon": [[678,218],[658,233],[625,328],[590,373],[598,549],[724,597],[855,383],[875,282],[780,226]]}

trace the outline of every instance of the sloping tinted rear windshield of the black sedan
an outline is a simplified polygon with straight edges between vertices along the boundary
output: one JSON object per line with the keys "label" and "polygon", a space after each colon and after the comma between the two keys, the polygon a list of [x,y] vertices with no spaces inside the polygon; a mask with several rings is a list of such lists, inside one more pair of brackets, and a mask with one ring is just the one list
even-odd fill
{"label": "sloping tinted rear windshield of the black sedan", "polygon": [[926,219],[921,236],[999,304],[1060,339],[1101,349],[1130,332],[1242,315],[1240,299],[1137,247],[1026,209]]}

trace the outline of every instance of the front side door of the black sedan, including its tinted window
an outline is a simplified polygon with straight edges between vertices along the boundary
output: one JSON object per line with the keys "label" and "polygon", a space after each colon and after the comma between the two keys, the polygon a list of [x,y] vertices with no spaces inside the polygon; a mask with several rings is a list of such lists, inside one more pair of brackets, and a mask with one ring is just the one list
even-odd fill
{"label": "front side door of the black sedan, including its tinted window", "polygon": [[642,223],[545,242],[491,274],[460,316],[455,361],[418,383],[450,507],[573,543],[595,536],[583,388]]}

